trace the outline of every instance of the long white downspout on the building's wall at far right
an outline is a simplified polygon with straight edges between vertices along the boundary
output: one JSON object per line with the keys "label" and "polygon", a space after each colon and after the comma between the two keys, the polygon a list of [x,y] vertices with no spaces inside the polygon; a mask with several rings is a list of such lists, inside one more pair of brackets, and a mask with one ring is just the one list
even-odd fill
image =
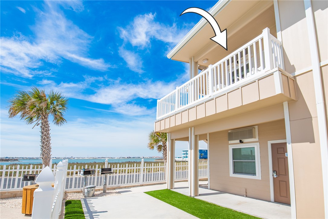
{"label": "long white downspout on the building's wall at far right", "polygon": [[328,137],[326,114],[323,99],[321,71],[318,55],[318,43],[316,37],[315,23],[312,11],[311,0],[304,0],[305,16],[308,27],[310,52],[313,69],[314,91],[316,96],[318,126],[319,126],[319,142],[321,151],[321,165],[322,165],[322,181],[323,181],[323,199],[325,218],[328,218]]}

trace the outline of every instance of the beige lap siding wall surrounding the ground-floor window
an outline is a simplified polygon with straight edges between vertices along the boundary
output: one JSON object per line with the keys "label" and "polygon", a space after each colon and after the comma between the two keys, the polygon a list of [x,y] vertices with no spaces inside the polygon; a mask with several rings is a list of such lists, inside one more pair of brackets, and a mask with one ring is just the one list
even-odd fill
{"label": "beige lap siding wall surrounding the ground-floor window", "polygon": [[281,139],[286,139],[284,120],[258,124],[261,180],[256,180],[230,177],[228,130],[210,133],[211,189],[237,195],[244,195],[246,189],[248,197],[270,201],[268,141]]}

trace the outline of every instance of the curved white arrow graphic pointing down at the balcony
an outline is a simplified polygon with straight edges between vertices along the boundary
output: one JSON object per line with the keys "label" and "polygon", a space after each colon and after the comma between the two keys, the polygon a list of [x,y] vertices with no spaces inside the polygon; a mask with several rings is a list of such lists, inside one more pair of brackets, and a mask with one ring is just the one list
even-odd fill
{"label": "curved white arrow graphic pointing down at the balcony", "polygon": [[227,46],[227,29],[221,31],[218,23],[216,22],[215,18],[207,11],[200,9],[200,8],[188,8],[186,10],[184,10],[180,16],[182,14],[185,13],[196,13],[199,14],[200,16],[204,17],[209,24],[212,26],[215,36],[213,36],[211,38],[211,40],[213,40],[214,42],[216,42],[217,44],[219,44],[220,46],[222,46],[225,50],[228,51],[228,46]]}

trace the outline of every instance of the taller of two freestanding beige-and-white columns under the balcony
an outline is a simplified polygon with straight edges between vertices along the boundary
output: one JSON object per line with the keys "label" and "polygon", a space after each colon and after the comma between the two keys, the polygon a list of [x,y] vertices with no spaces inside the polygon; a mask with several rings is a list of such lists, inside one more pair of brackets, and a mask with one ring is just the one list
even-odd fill
{"label": "taller of two freestanding beige-and-white columns under the balcony", "polygon": [[198,196],[198,135],[195,136],[194,127],[189,128],[189,152],[188,152],[188,184],[189,195]]}

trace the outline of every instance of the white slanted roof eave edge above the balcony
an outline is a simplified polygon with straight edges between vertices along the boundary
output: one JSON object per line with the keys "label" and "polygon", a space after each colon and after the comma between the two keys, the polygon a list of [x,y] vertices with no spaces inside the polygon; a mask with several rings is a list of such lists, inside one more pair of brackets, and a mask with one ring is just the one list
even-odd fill
{"label": "white slanted roof eave edge above the balcony", "polygon": [[[215,16],[215,14],[226,4],[228,4],[231,0],[219,0],[209,11],[212,16]],[[189,40],[191,40],[195,34],[200,31],[204,25],[207,23],[207,20],[202,18],[194,27],[185,35],[182,40],[167,54],[168,58],[172,58],[179,50],[184,47]]]}

